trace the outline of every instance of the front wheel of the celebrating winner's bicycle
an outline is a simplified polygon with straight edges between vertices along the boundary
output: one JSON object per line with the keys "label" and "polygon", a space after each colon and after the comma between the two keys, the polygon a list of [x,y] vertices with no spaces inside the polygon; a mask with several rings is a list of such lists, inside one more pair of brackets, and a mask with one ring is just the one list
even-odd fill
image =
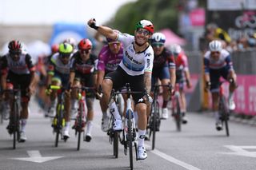
{"label": "front wheel of the celebrating winner's bicycle", "polygon": [[132,120],[131,120],[131,110],[128,110],[128,142],[129,142],[129,156],[130,156],[130,169],[134,168],[134,162],[133,162],[133,127],[132,127]]}

